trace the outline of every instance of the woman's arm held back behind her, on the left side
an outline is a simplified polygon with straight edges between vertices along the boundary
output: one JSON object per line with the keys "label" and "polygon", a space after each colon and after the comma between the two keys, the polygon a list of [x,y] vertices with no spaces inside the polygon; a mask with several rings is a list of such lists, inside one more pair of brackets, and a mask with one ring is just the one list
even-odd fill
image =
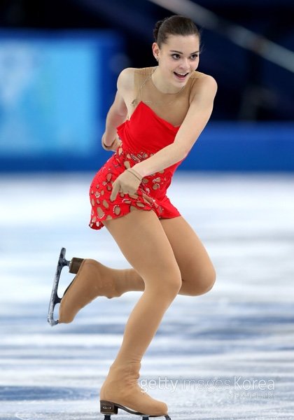
{"label": "woman's arm held back behind her, on the left side", "polygon": [[109,112],[106,116],[106,128],[102,137],[102,141],[105,146],[111,146],[113,141],[116,139],[116,127],[123,124],[127,118],[127,106],[123,96],[125,90],[128,90],[129,86],[132,85],[132,78],[134,77],[132,69],[123,70],[118,76],[118,91],[113,104],[111,105]]}

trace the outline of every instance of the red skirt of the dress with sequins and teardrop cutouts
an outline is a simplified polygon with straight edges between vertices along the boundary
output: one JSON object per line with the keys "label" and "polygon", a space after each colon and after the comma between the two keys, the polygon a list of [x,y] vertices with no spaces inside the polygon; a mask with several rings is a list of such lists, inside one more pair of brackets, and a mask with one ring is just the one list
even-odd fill
{"label": "red skirt of the dress with sequins and teardrop cutouts", "polygon": [[104,166],[94,176],[90,186],[90,202],[92,206],[90,228],[99,230],[113,218],[125,216],[132,209],[153,210],[158,218],[174,218],[181,216],[169,201],[167,188],[172,181],[176,166],[164,169],[142,179],[137,193],[134,195],[118,193],[111,202],[112,183],[125,169],[138,162],[150,158],[153,153],[127,151],[123,146],[113,153]]}

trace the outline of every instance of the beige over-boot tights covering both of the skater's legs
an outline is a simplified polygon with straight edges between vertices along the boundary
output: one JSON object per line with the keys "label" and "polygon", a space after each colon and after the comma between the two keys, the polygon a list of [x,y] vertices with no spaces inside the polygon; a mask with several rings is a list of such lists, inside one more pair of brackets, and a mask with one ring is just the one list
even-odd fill
{"label": "beige over-boot tights covering both of the skater's legs", "polygon": [[[62,322],[72,320],[70,306],[80,304],[83,294],[80,307],[97,295],[115,297],[131,290],[143,291],[125,326],[123,343],[102,385],[100,400],[105,407],[112,402],[149,415],[167,414],[167,405],[142,393],[137,384],[141,359],[176,295],[208,291],[214,283],[214,268],[183,218],[160,222],[153,211],[135,210],[105,225],[134,268],[112,269],[85,260],[84,279],[76,276],[76,286],[62,299],[61,314],[72,312]],[[93,286],[96,283],[99,287]],[[90,299],[85,290],[92,293]]]}

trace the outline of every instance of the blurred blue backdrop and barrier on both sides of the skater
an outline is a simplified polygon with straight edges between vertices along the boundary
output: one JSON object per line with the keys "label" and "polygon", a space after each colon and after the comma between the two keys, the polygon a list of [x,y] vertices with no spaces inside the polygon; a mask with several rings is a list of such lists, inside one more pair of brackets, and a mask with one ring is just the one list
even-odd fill
{"label": "blurred blue backdrop and barrier on both sides of the skater", "polygon": [[[124,49],[114,31],[0,31],[0,172],[98,169]],[[293,171],[294,123],[211,120],[180,169]]]}

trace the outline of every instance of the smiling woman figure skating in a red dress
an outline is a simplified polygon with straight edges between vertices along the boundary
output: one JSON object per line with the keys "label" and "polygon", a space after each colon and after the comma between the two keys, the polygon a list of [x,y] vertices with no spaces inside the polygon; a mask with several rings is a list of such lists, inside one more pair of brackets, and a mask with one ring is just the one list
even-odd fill
{"label": "smiling woman figure skating in a red dress", "polygon": [[165,402],[139,387],[141,360],[176,295],[207,293],[216,277],[200,239],[166,195],[211,116],[216,80],[197,71],[200,34],[192,20],[174,15],[153,33],[158,65],[118,76],[102,137],[114,153],[90,186],[90,228],[105,226],[132,268],[73,258],[76,276],[59,306],[59,323],[70,323],[97,296],[143,292],[100,391],[105,419],[118,408],[169,419]]}

